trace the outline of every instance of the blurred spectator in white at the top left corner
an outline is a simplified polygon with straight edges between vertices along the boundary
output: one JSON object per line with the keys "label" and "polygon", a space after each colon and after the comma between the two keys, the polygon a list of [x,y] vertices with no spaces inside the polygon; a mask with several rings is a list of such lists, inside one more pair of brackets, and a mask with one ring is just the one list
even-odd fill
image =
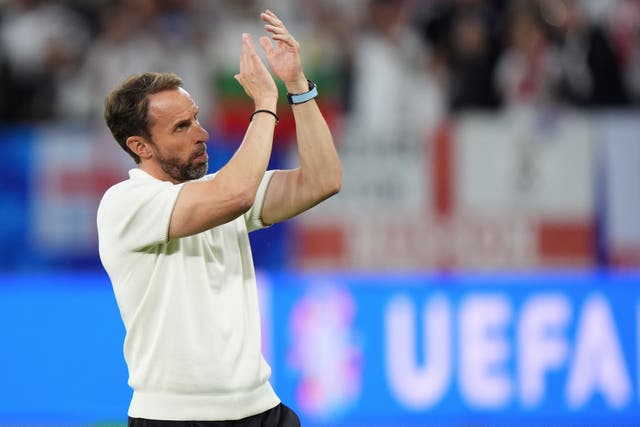
{"label": "blurred spectator in white at the top left corner", "polygon": [[0,25],[8,105],[2,120],[51,118],[55,80],[75,68],[88,42],[85,22],[72,9],[55,1],[9,0]]}

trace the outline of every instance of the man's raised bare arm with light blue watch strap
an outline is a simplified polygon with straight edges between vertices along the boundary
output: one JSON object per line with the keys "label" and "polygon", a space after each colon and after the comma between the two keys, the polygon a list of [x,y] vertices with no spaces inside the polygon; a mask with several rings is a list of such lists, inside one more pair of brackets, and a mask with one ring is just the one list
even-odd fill
{"label": "man's raised bare arm with light blue watch strap", "polygon": [[[260,15],[271,38],[261,37],[267,61],[289,93],[309,90],[302,69],[300,45],[270,10]],[[342,169],[333,137],[314,99],[291,106],[296,123],[300,167],[281,170],[271,179],[262,220],[273,224],[291,218],[334,195],[342,185]]]}

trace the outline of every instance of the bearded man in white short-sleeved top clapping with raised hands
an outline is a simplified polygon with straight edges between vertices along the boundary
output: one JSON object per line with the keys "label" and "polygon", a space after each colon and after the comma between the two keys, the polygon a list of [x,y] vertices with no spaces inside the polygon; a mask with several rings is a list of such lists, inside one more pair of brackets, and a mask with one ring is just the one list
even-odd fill
{"label": "bearded man in white short-sleeved top clapping with raised hands", "polygon": [[266,171],[278,91],[248,34],[235,78],[256,112],[214,175],[203,177],[209,135],[177,76],[132,76],[107,98],[106,122],[138,163],[97,218],[127,331],[130,426],[299,425],[269,384],[247,233],[337,193],[341,166],[297,41],[271,11],[260,16],[275,42],[260,45],[289,92],[299,168]]}

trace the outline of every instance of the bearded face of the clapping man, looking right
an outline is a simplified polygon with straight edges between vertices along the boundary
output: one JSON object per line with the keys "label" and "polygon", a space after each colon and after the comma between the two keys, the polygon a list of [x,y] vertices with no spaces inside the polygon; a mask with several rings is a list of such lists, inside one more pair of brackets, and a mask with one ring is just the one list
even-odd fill
{"label": "bearded face of the clapping man, looking right", "polygon": [[155,161],[180,183],[207,173],[209,133],[198,122],[198,106],[182,88],[149,96],[149,131]]}

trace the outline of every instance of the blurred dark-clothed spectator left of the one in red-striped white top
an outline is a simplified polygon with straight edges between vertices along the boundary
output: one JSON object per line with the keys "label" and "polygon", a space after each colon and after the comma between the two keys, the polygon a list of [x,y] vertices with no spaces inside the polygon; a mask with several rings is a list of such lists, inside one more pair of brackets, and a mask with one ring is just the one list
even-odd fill
{"label": "blurred dark-clothed spectator left of the one in red-striped white top", "polygon": [[500,54],[502,2],[452,0],[436,3],[420,24],[445,66],[452,111],[496,108],[494,71]]}

